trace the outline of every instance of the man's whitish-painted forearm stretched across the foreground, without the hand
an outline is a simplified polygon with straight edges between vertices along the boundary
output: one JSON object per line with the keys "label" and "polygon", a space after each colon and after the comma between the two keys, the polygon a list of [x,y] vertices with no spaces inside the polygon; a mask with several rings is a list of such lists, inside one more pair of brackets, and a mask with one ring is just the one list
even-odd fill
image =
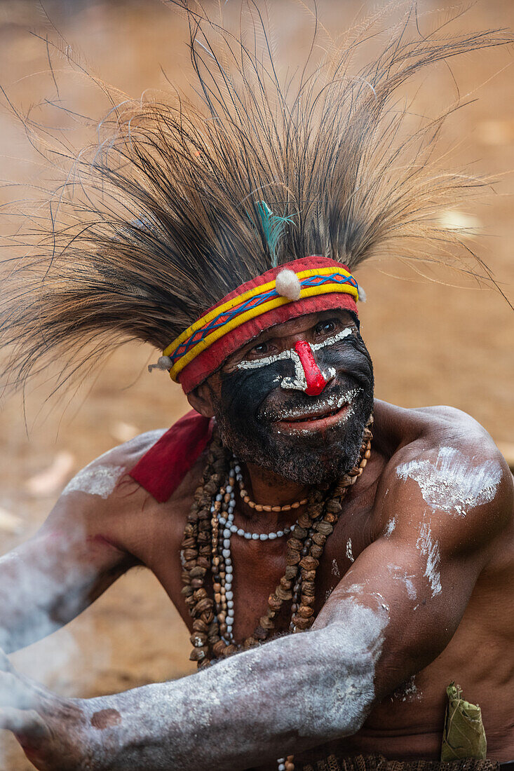
{"label": "man's whitish-painted forearm stretched across the foreground, without the hand", "polygon": [[354,733],[387,619],[351,601],[326,627],[198,675],[81,702],[94,769],[245,769]]}

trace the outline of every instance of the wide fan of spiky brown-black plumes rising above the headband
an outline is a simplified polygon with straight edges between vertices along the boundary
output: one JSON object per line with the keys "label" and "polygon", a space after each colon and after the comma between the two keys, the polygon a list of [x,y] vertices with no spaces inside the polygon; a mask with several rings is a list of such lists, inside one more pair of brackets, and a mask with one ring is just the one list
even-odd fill
{"label": "wide fan of spiky brown-black plumes rising above the headband", "polygon": [[421,35],[412,5],[359,69],[360,41],[384,29],[387,9],[342,43],[316,19],[303,69],[282,78],[264,5],[242,3],[249,29],[237,34],[198,3],[174,5],[188,20],[197,97],[113,106],[98,143],[78,157],[60,147],[73,164],[2,293],[6,382],[23,384],[48,356],[66,362],[66,379],[120,342],[164,348],[238,284],[308,254],[352,271],[386,253],[442,259],[487,278],[438,218],[482,181],[435,160],[445,116],[405,130],[398,89],[509,34]]}

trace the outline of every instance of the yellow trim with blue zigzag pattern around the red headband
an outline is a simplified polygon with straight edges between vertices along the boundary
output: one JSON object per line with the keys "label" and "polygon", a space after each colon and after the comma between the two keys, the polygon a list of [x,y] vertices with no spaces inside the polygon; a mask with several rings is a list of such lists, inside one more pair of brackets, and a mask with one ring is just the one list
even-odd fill
{"label": "yellow trim with blue zigzag pattern around the red headband", "polygon": [[[163,355],[171,361],[171,379],[177,382],[184,367],[228,332],[281,305],[334,292],[351,295],[353,300],[357,301],[359,293],[362,296],[362,291],[360,292],[355,278],[342,266],[335,268],[333,261],[330,262],[332,264],[327,268],[318,267],[295,272],[293,279],[296,275],[298,292],[294,298],[291,295],[285,296],[277,289],[277,279],[280,277],[278,274],[272,281],[258,284],[228,301],[221,301],[221,304],[198,318],[164,349]],[[293,266],[293,263],[289,265]],[[282,268],[286,269],[288,266]],[[293,273],[289,270],[284,272]],[[245,284],[242,288],[244,286]]]}

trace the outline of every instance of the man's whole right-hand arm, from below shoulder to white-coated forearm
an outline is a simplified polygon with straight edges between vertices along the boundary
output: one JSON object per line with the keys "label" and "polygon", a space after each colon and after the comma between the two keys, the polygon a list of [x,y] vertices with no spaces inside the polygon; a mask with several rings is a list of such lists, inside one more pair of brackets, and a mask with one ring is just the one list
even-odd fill
{"label": "man's whole right-hand arm, from below shoulder to white-coated forearm", "polygon": [[[244,769],[353,734],[455,633],[512,516],[503,472],[490,500],[465,517],[434,510],[418,483],[391,475],[382,537],[360,554],[311,631],[176,682],[66,702],[60,724],[39,695],[24,691],[25,709],[73,747],[73,771]],[[393,518],[394,529],[386,526]],[[7,715],[5,725],[21,719]],[[51,742],[41,740],[37,752],[32,762],[51,767]]]}

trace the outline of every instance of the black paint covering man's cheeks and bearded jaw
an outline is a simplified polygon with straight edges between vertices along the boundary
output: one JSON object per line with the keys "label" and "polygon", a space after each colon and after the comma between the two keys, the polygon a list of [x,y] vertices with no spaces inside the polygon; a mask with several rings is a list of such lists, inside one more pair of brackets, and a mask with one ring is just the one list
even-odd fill
{"label": "black paint covering man's cheeks and bearded jaw", "polygon": [[[323,371],[336,371],[320,396],[280,387],[282,378],[294,375],[290,359],[258,369],[221,372],[221,399],[216,400],[215,416],[225,446],[239,460],[256,463],[300,484],[330,482],[351,469],[374,405],[370,355],[360,334],[353,330],[344,340],[316,352],[316,362]],[[293,429],[292,433],[277,428],[295,413],[327,412],[327,403],[337,409],[338,400],[348,392],[352,394],[348,414],[336,425],[299,432]]]}

